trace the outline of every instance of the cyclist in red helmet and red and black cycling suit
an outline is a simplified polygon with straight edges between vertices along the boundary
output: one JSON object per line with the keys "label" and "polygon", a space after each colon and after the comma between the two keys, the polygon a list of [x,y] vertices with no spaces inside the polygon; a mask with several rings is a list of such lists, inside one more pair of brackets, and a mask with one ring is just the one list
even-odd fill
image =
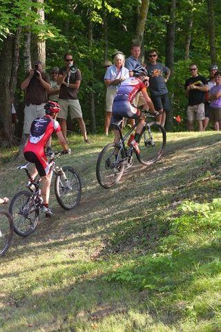
{"label": "cyclist in red helmet and red and black cycling suit", "polygon": [[37,118],[32,122],[30,136],[23,149],[23,155],[26,160],[35,164],[32,181],[34,181],[37,173],[41,176],[41,194],[44,200],[42,211],[46,212],[48,215],[52,215],[52,211],[48,208],[50,195],[50,167],[45,154],[46,145],[49,138],[52,136],[52,133],[56,133],[59,144],[63,147],[64,151],[68,153],[69,150],[66,140],[61,132],[59,122],[55,120],[57,113],[60,111],[59,104],[57,102],[46,102],[44,108],[46,109],[46,116]]}

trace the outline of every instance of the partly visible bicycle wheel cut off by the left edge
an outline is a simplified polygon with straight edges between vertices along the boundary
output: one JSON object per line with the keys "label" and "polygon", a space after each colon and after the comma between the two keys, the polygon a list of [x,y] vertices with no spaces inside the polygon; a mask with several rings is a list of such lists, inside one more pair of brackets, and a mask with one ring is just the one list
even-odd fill
{"label": "partly visible bicycle wheel cut off by the left edge", "polygon": [[8,250],[13,236],[12,216],[9,212],[0,210],[0,257]]}

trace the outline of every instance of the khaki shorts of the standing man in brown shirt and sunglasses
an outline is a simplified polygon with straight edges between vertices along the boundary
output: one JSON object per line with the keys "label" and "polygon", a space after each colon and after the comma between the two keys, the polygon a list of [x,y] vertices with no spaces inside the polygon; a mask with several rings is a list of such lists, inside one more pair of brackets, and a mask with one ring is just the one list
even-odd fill
{"label": "khaki shorts of the standing man in brown shirt and sunglasses", "polygon": [[70,111],[71,120],[82,118],[81,105],[78,99],[59,99],[58,103],[61,111],[59,111],[57,118],[66,120],[68,118],[68,110]]}

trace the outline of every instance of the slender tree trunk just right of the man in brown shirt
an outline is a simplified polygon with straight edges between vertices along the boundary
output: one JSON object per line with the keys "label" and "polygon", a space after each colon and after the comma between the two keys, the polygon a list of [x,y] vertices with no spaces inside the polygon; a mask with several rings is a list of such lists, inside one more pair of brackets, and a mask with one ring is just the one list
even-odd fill
{"label": "slender tree trunk just right of the man in brown shirt", "polygon": [[[92,50],[93,47],[93,23],[91,21],[91,10],[89,10],[89,23],[88,23],[88,44],[89,48]],[[90,73],[93,73],[93,59],[89,57],[89,69]],[[93,92],[93,82],[89,82],[90,92],[89,92],[89,105],[90,105],[90,117],[91,117],[91,131],[96,132],[96,118],[95,118],[95,96]]]}

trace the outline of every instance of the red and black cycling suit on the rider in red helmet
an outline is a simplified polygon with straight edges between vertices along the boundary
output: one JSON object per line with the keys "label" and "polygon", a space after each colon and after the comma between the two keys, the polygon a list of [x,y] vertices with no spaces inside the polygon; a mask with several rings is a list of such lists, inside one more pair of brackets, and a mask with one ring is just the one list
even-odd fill
{"label": "red and black cycling suit on the rider in red helmet", "polygon": [[25,154],[25,157],[28,156],[28,153],[32,153],[32,155],[34,154],[33,161],[32,158],[26,159],[35,163],[42,176],[47,175],[49,172],[48,160],[44,149],[50,136],[52,136],[52,133],[57,133],[58,131],[61,131],[59,122],[52,119],[50,116],[43,116],[42,118],[37,118],[32,122],[30,136],[26,146],[23,149],[23,153]]}

